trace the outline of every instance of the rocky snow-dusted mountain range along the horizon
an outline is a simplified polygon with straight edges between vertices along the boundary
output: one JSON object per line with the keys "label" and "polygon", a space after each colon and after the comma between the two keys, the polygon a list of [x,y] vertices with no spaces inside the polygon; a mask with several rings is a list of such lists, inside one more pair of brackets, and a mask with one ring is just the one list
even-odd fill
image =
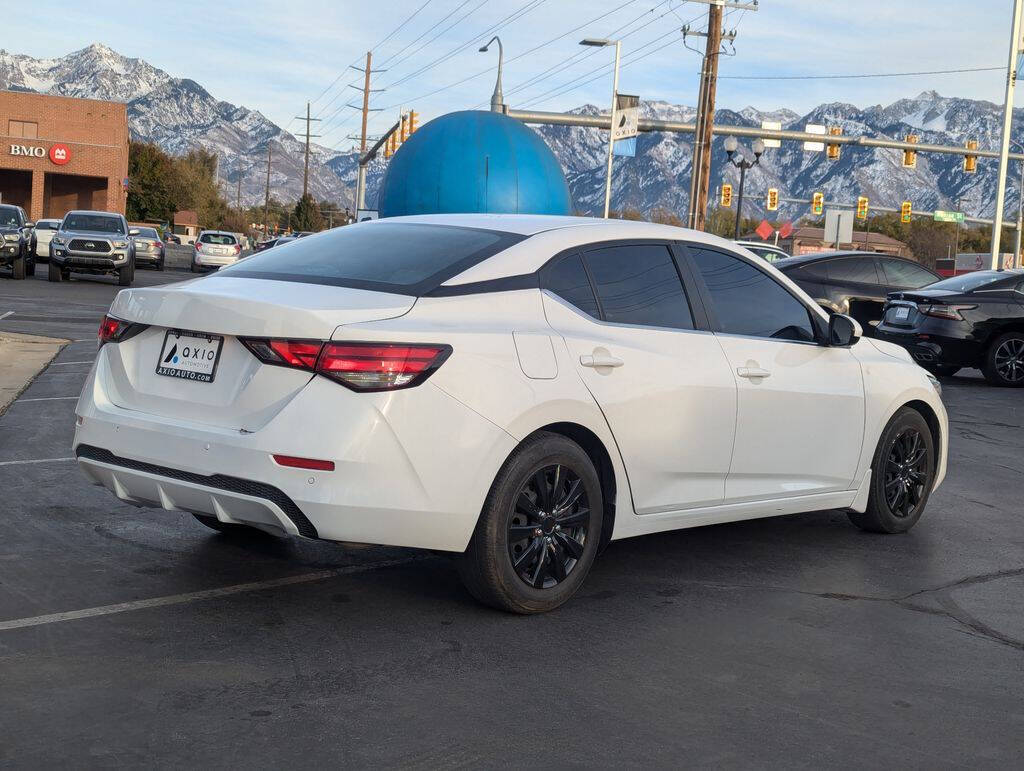
{"label": "rocky snow-dusted mountain range along the horizon", "polygon": [[[694,84],[695,86],[695,84]],[[37,59],[0,50],[0,88],[114,99],[128,104],[132,135],[154,141],[171,153],[202,145],[220,158],[224,190],[233,198],[242,177],[242,196],[247,203],[262,201],[267,144],[273,164],[272,195],[281,200],[298,198],[302,188],[303,143],[269,121],[258,111],[221,101],[193,80],[175,78],[142,59],[128,58],[100,44],[66,56]],[[665,101],[642,103],[644,116],[660,120],[692,122],[693,108]],[[587,104],[579,113],[596,115]],[[1015,117],[1015,129],[1024,111]],[[916,133],[922,142],[963,145],[969,138],[981,147],[997,144],[1000,108],[987,101],[944,97],[925,91],[914,98],[892,104],[860,109],[843,102],[821,104],[807,115],[786,110],[760,111],[752,106],[738,112],[719,110],[720,125],[759,126],[777,121],[783,128],[800,129],[808,123],[840,125],[846,135],[887,136],[902,139]],[[543,126],[538,131],[562,163],[577,209],[599,211],[603,201],[606,137],[593,129]],[[1016,132],[1015,132],[1016,133]],[[726,163],[724,134],[714,143],[712,186],[738,181],[738,171]],[[688,134],[642,134],[633,159],[616,159],[612,207],[648,211],[662,207],[685,212],[689,189],[692,136]],[[313,195],[347,204],[355,182],[355,153],[313,145],[310,186]],[[368,202],[376,199],[384,170],[378,159],[368,174]],[[896,151],[844,146],[842,158],[829,162],[822,153],[805,153],[795,142],[769,148],[759,166],[749,172],[748,207],[753,215],[763,206],[765,190],[777,187],[782,198],[808,199],[822,190],[828,200],[852,201],[867,196],[873,205],[899,206],[912,201],[915,208],[955,208],[990,215],[994,200],[996,163],[982,159],[978,173],[964,174],[959,156],[919,155],[915,169],[900,165]],[[1016,184],[1008,189],[1008,207],[1017,205]],[[780,216],[799,216],[806,209],[780,210]]]}

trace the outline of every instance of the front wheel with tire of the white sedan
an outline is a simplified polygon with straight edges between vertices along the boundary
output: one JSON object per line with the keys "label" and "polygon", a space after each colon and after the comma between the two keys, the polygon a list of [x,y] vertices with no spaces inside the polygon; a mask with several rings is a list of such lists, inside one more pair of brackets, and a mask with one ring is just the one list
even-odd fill
{"label": "front wheel with tire of the white sedan", "polygon": [[867,508],[849,512],[868,532],[906,532],[925,511],[935,483],[936,447],[928,422],[904,406],[886,425],[871,459]]}

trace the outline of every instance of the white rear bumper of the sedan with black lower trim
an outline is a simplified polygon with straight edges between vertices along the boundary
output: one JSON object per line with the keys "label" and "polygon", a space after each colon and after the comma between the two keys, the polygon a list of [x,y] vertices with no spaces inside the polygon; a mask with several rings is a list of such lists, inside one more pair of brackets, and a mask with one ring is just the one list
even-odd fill
{"label": "white rear bumper of the sedan with black lower trim", "polygon": [[[515,446],[429,382],[353,394],[313,378],[251,433],[145,415],[106,398],[104,354],[76,410],[75,454],[93,482],[139,506],[306,538],[459,552]],[[335,470],[280,466],[273,454],[332,460]]]}

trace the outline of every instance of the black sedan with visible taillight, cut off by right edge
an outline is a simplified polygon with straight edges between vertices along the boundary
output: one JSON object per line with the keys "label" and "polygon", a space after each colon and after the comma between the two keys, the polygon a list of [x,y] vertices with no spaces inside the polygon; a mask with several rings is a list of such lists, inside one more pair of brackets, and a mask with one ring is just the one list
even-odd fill
{"label": "black sedan with visible taillight, cut off by right edge", "polygon": [[989,383],[1024,386],[1024,271],[978,270],[894,292],[876,334],[936,375],[976,367]]}

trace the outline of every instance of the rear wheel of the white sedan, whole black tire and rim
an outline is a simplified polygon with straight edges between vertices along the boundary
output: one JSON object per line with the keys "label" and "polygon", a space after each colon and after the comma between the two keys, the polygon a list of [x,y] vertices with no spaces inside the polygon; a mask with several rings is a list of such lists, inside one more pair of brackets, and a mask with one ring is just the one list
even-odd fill
{"label": "rear wheel of the white sedan, whole black tire and rim", "polygon": [[480,602],[513,613],[558,607],[594,563],[603,506],[600,479],[583,448],[559,434],[535,434],[490,485],[459,560],[463,584]]}

